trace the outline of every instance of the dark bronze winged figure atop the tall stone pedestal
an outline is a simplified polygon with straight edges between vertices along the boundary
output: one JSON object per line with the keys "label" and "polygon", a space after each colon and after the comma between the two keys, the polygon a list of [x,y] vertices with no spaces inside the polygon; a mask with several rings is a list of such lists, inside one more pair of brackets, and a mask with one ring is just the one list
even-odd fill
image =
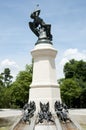
{"label": "dark bronze winged figure atop the tall stone pedestal", "polygon": [[39,17],[41,10],[36,10],[33,13],[31,13],[30,17],[33,19],[33,22],[29,22],[30,29],[34,32],[34,34],[39,37],[40,36],[40,30],[43,30],[46,32],[46,38],[48,40],[52,40],[51,35],[51,25],[46,24],[42,18]]}

